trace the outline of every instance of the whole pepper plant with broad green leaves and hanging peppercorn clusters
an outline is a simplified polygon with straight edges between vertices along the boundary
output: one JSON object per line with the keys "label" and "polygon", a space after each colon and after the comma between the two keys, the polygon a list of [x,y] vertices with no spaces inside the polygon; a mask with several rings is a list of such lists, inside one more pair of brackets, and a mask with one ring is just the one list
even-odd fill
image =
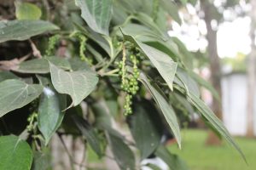
{"label": "whole pepper plant with broad green leaves and hanging peppercorn clusters", "polygon": [[42,2],[16,2],[16,18],[0,21],[0,169],[50,169],[38,157],[54,135],[83,139],[102,159],[109,148],[120,169],[152,155],[187,169],[161,137],[181,148],[195,112],[243,156],[199,88],[218,94],[167,34],[167,19],[180,23],[177,9],[193,2]]}

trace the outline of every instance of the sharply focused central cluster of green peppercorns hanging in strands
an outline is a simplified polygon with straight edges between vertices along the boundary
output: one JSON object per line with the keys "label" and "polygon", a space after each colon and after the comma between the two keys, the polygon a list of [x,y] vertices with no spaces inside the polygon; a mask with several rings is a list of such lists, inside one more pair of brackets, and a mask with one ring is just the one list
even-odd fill
{"label": "sharply focused central cluster of green peppercorns hanging in strands", "polygon": [[[135,53],[134,53],[135,51]],[[125,54],[123,54],[123,59],[119,61],[119,76],[122,78],[121,89],[125,91],[125,115],[131,114],[131,105],[132,105],[132,96],[137,94],[139,89],[137,79],[139,77],[139,71],[137,65],[139,64],[139,60],[137,59],[139,56],[138,50],[133,50],[129,56],[129,60],[126,59]],[[132,70],[127,71],[126,62],[131,61]]]}

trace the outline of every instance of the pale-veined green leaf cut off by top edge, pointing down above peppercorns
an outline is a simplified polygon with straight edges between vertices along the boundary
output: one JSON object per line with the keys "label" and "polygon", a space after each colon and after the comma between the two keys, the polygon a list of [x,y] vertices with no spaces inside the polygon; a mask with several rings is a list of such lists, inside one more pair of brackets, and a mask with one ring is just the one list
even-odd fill
{"label": "pale-veined green leaf cut off by top edge, pointing down above peppercorns", "polygon": [[108,26],[112,18],[112,0],[76,0],[81,8],[82,18],[93,31],[108,36]]}

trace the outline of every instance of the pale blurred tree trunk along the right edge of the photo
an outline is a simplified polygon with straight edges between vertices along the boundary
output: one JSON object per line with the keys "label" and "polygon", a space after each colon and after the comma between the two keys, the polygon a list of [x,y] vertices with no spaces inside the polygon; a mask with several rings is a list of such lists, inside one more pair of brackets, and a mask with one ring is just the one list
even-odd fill
{"label": "pale blurred tree trunk along the right edge of the photo", "polygon": [[256,22],[256,2],[251,0],[252,10],[251,10],[251,31],[250,37],[252,40],[252,52],[248,55],[247,60],[247,137],[252,138],[254,136],[253,133],[253,114],[254,114],[254,88],[255,88],[255,64],[256,64],[256,48],[255,48],[255,22]]}

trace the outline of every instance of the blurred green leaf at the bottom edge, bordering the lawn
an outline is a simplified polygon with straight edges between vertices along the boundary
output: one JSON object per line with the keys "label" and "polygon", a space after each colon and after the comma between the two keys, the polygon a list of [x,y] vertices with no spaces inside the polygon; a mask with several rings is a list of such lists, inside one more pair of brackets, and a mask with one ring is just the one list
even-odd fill
{"label": "blurred green leaf at the bottom edge, bordering the lawn", "polygon": [[179,156],[170,153],[164,146],[160,146],[156,152],[156,156],[159,156],[170,167],[170,170],[189,170],[186,162]]}

